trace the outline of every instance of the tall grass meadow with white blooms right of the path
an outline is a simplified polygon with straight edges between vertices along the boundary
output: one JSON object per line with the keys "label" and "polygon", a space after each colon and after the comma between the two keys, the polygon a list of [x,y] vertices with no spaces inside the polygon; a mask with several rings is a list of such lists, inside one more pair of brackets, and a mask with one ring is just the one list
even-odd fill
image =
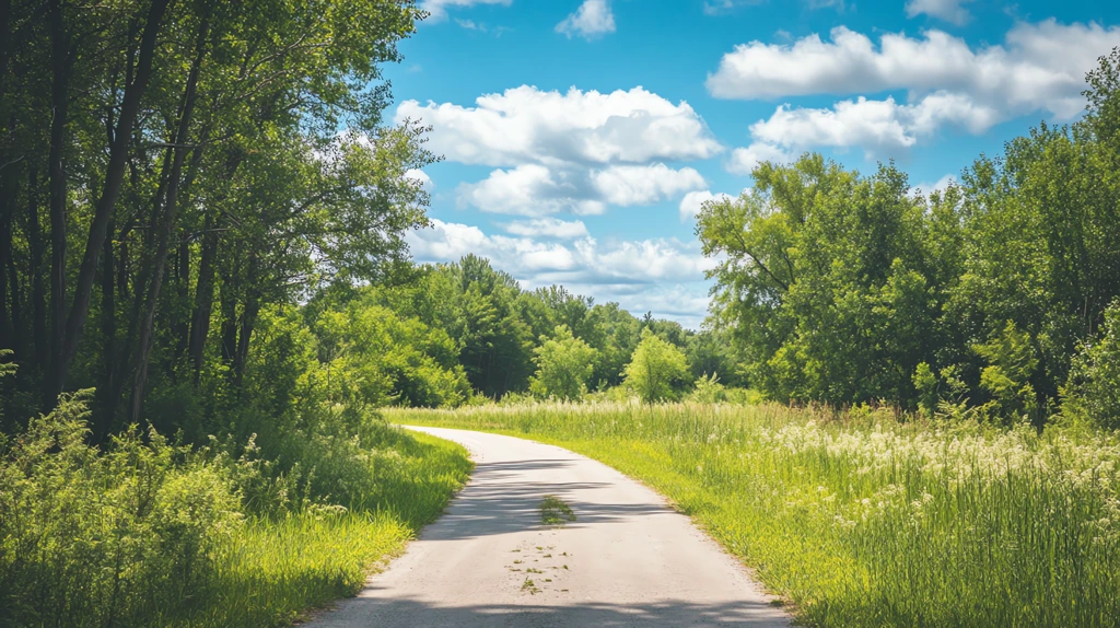
{"label": "tall grass meadow with white blooms right of the path", "polygon": [[814,626],[1120,625],[1120,443],[778,405],[399,410],[640,478]]}

